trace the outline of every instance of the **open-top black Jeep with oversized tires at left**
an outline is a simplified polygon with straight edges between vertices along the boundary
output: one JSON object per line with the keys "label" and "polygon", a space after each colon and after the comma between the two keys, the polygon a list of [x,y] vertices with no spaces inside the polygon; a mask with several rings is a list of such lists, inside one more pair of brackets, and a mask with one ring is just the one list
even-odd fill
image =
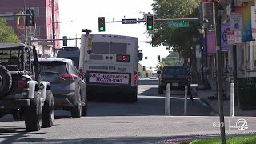
{"label": "open-top black Jeep with oversized tires at left", "polygon": [[24,118],[27,131],[53,125],[54,98],[50,83],[40,81],[35,47],[0,43],[2,114],[13,114],[14,119]]}

